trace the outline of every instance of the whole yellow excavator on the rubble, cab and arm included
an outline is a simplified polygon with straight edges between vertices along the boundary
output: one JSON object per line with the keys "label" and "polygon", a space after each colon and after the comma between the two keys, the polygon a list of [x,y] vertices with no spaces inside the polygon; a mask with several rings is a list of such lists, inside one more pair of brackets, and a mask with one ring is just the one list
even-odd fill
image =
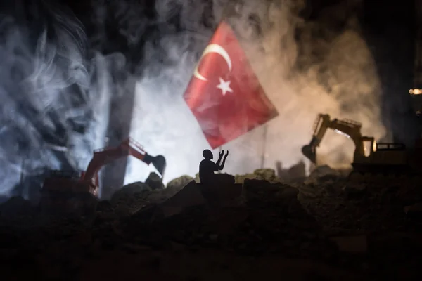
{"label": "whole yellow excavator on the rubble, cab and arm included", "polygon": [[359,173],[407,173],[420,172],[422,166],[422,143],[416,140],[414,149],[407,150],[402,143],[376,143],[370,136],[362,136],[362,124],[349,119],[330,119],[330,115],[319,114],[314,124],[314,135],[302,153],[316,163],[316,148],[327,129],[351,138],[355,149],[352,167]]}

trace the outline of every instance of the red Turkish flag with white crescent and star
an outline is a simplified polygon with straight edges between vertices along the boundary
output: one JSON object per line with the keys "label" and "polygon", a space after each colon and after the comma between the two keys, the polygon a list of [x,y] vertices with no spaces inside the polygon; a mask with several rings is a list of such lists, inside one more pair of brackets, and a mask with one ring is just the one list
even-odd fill
{"label": "red Turkish flag with white crescent and star", "polygon": [[184,100],[212,149],[278,115],[234,31],[224,21],[205,48]]}

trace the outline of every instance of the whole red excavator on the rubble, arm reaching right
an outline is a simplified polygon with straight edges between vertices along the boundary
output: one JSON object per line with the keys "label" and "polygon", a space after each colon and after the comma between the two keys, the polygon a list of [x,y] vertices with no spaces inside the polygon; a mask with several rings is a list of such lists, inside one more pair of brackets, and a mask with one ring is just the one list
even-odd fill
{"label": "whole red excavator on the rubble, arm reaching right", "polygon": [[115,159],[132,155],[146,164],[153,164],[160,176],[164,176],[166,161],[162,155],[151,156],[143,146],[127,138],[117,147],[94,150],[87,171],[51,171],[41,188],[41,208],[72,210],[87,213],[95,209],[98,199],[98,171]]}

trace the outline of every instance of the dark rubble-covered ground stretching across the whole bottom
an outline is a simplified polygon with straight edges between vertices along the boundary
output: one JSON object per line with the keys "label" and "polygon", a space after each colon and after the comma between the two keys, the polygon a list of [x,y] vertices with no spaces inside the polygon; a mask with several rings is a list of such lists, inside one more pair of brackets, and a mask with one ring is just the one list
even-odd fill
{"label": "dark rubble-covered ground stretching across the whole bottom", "polygon": [[126,185],[95,214],[0,205],[2,280],[421,280],[421,178],[321,166]]}

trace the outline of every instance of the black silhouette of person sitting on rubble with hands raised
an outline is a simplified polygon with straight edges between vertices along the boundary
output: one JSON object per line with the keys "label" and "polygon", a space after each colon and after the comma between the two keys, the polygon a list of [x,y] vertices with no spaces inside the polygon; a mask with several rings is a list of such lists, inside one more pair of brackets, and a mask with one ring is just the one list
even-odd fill
{"label": "black silhouette of person sitting on rubble with hands raised", "polygon": [[[203,185],[215,185],[215,184],[232,184],[235,182],[234,176],[228,174],[214,174],[215,171],[221,171],[224,168],[224,164],[226,163],[227,155],[229,155],[229,151],[226,152],[224,155],[224,150],[219,153],[219,159],[217,163],[212,162],[211,160],[214,158],[212,155],[211,150],[204,150],[203,151],[203,159],[199,164],[199,179],[200,183]],[[223,159],[223,162],[222,162]],[[222,163],[221,163],[222,162]],[[221,163],[221,164],[220,164]]]}

